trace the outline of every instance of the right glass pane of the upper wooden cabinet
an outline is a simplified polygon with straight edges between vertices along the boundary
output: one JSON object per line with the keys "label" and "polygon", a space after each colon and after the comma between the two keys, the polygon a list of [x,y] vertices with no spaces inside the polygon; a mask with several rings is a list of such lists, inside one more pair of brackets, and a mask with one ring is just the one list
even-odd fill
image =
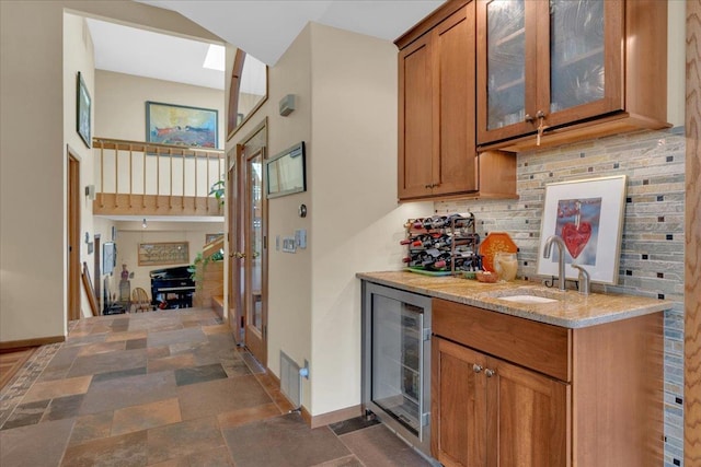
{"label": "right glass pane of the upper wooden cabinet", "polygon": [[604,98],[604,1],[550,1],[550,112]]}

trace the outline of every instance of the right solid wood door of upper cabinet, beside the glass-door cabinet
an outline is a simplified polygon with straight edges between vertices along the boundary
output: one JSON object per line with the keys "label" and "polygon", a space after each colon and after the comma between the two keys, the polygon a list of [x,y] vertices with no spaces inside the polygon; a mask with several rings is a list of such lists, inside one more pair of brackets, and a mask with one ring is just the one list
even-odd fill
{"label": "right solid wood door of upper cabinet, beside the glass-door cabinet", "polygon": [[434,135],[434,195],[474,191],[476,186],[474,95],[474,3],[452,14],[434,32],[437,115]]}

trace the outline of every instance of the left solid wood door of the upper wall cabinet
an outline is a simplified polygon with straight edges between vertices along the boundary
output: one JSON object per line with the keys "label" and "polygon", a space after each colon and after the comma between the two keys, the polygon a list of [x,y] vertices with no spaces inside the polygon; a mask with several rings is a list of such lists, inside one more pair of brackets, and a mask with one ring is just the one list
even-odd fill
{"label": "left solid wood door of the upper wall cabinet", "polygon": [[399,197],[430,194],[433,172],[433,74],[430,37],[399,55]]}

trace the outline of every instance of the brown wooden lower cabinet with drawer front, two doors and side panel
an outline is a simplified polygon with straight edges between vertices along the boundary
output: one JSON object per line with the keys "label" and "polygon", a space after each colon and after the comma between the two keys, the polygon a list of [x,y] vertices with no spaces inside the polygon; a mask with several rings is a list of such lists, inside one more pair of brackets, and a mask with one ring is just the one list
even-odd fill
{"label": "brown wooden lower cabinet with drawer front, two doors and side panel", "polygon": [[445,466],[663,464],[662,313],[570,329],[434,299]]}

